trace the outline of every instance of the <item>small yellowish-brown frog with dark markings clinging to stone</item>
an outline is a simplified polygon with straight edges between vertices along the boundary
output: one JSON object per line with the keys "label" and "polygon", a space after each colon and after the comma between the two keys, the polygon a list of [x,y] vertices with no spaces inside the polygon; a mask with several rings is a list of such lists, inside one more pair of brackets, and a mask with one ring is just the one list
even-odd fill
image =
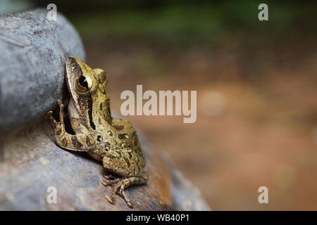
{"label": "small yellowish-brown frog with dark markings clinging to stone", "polygon": [[[133,207],[125,189],[146,184],[149,176],[135,128],[128,120],[111,116],[107,73],[70,56],[65,80],[70,94],[68,113],[64,113],[62,99],[57,100],[59,122],[52,110],[46,113],[54,127],[56,144],[66,150],[84,151],[102,162],[106,174],[101,184],[112,186],[110,195],[105,196],[108,202],[114,204],[119,194],[128,207]],[[73,133],[66,130],[65,120],[69,120]]]}

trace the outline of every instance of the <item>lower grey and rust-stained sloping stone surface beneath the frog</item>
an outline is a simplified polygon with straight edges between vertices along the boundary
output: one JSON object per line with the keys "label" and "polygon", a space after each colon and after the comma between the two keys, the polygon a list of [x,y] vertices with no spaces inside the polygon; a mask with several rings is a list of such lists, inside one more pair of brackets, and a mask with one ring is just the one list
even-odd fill
{"label": "lower grey and rust-stained sloping stone surface beneath the frog", "polygon": [[[127,189],[133,210],[209,210],[168,158],[140,141],[149,181]],[[101,162],[56,146],[46,120],[11,131],[1,153],[0,210],[131,210],[120,196],[108,203],[111,187],[100,183]],[[57,190],[56,204],[46,202],[49,186]]]}

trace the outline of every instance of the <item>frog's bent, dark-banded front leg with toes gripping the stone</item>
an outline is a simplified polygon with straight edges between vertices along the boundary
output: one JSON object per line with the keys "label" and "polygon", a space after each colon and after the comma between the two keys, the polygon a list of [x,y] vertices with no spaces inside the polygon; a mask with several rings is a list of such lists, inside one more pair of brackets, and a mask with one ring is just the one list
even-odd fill
{"label": "frog's bent, dark-banded front leg with toes gripping the stone", "polygon": [[57,122],[53,117],[53,112],[49,111],[46,114],[46,118],[51,120],[51,124],[55,131],[55,140],[58,146],[69,150],[76,151],[89,151],[94,150],[94,139],[86,134],[68,134],[64,124],[63,103],[61,99],[57,101],[59,105],[59,118],[60,122]]}

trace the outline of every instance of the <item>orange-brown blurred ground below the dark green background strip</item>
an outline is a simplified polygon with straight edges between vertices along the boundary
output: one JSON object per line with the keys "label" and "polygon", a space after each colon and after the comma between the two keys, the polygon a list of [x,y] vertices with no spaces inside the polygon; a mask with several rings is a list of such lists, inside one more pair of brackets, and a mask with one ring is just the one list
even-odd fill
{"label": "orange-brown blurred ground below the dark green background strip", "polygon": [[[317,53],[292,43],[170,50],[85,40],[87,63],[108,72],[116,113],[120,93],[137,84],[197,90],[193,124],[177,116],[127,119],[169,153],[213,210],[317,210]],[[260,186],[268,187],[267,205],[258,203]]]}

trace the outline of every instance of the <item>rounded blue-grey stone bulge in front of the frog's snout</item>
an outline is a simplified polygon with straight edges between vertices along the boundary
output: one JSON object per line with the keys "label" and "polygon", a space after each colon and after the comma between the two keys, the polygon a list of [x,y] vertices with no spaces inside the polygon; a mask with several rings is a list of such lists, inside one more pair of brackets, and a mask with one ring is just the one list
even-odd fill
{"label": "rounded blue-grey stone bulge in front of the frog's snout", "polygon": [[74,27],[46,9],[0,15],[0,132],[42,117],[63,97],[68,56],[85,60]]}

